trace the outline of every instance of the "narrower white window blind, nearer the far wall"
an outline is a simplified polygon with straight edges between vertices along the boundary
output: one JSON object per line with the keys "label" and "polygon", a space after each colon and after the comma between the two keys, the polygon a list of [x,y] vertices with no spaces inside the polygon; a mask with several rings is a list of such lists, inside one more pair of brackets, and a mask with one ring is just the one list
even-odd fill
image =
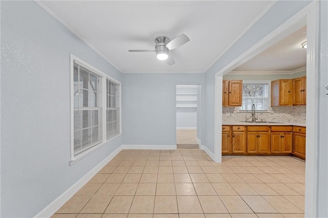
{"label": "narrower white window blind, nearer the far wall", "polygon": [[120,133],[120,120],[119,120],[119,85],[106,80],[106,96],[107,96],[107,109],[106,109],[106,139],[110,139]]}

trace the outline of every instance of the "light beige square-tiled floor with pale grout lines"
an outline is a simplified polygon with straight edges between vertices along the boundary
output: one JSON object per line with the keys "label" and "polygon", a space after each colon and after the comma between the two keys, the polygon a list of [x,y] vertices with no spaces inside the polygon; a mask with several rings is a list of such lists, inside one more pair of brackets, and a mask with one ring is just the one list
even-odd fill
{"label": "light beige square-tiled floor with pale grout lines", "polygon": [[305,162],[122,150],[52,217],[304,217]]}

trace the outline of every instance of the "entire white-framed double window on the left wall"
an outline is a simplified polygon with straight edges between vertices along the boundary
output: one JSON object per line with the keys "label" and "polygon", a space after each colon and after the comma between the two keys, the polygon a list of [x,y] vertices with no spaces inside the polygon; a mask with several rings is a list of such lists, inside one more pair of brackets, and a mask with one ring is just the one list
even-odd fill
{"label": "entire white-framed double window on the left wall", "polygon": [[71,55],[71,161],[121,134],[120,83]]}

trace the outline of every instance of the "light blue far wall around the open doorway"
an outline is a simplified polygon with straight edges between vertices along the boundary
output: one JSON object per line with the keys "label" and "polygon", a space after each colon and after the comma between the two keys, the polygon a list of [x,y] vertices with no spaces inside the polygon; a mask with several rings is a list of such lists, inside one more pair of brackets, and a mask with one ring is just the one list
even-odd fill
{"label": "light blue far wall around the open doorway", "polygon": [[122,81],[123,143],[175,145],[176,85],[203,86],[204,74],[131,73]]}

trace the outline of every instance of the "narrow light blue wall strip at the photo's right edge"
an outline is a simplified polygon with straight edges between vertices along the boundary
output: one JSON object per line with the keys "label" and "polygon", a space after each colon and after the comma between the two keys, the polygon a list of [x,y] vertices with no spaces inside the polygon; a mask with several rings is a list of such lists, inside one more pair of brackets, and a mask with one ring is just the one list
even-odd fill
{"label": "narrow light blue wall strip at the photo's right edge", "polygon": [[319,23],[319,76],[318,76],[318,199],[317,217],[328,217],[328,98],[324,86],[328,84],[328,2],[320,1],[320,23]]}

